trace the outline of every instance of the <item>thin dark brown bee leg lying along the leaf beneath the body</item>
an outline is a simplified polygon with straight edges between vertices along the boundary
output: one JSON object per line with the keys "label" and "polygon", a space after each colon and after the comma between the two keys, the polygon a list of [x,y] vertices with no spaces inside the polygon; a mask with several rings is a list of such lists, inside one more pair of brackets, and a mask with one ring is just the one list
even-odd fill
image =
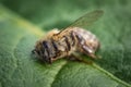
{"label": "thin dark brown bee leg lying along the leaf beneath the body", "polygon": [[87,61],[87,60],[82,59],[81,57],[78,57],[78,55],[75,55],[75,54],[71,54],[71,55],[69,57],[69,60],[71,60],[71,61],[79,61],[79,62],[83,62],[83,63],[86,63],[86,64],[93,64],[92,61]]}

